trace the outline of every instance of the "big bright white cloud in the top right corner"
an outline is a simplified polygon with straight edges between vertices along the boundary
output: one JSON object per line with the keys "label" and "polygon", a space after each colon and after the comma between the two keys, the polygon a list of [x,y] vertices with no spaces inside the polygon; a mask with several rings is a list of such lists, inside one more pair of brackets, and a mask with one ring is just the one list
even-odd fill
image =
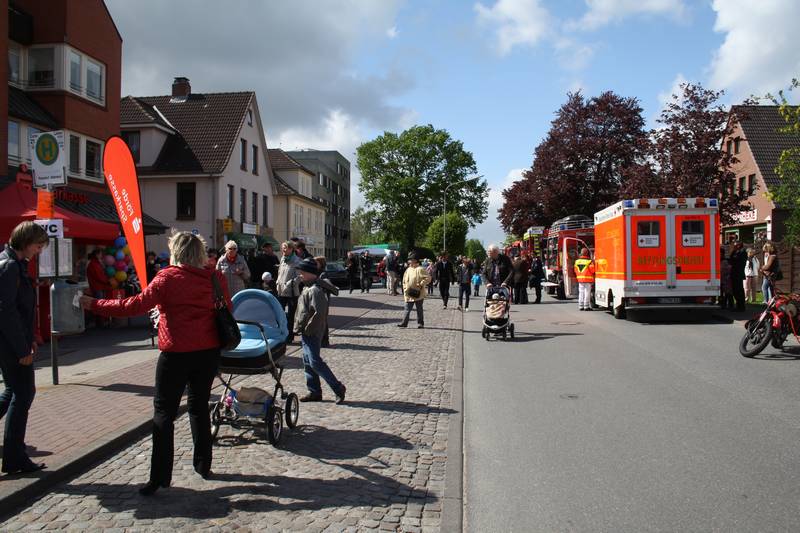
{"label": "big bright white cloud in the top right corner", "polygon": [[730,96],[775,92],[800,73],[797,0],[714,0],[714,30],[725,40],[711,62],[710,84]]}

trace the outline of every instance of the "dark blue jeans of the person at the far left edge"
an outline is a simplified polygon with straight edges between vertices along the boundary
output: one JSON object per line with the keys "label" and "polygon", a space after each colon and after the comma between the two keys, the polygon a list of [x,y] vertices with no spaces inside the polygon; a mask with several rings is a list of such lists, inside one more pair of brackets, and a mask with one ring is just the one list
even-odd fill
{"label": "dark blue jeans of the person at the far left edge", "polygon": [[36,395],[33,365],[24,366],[10,354],[0,354],[0,368],[6,389],[0,394],[0,418],[5,415],[3,436],[3,472],[17,470],[30,463],[25,451],[28,411]]}

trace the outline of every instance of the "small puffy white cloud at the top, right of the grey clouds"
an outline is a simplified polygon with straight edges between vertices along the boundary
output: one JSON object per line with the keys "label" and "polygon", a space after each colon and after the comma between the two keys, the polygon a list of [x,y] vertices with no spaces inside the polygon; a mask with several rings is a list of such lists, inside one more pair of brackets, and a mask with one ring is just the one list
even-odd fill
{"label": "small puffy white cloud at the top, right of the grey clouds", "polygon": [[536,46],[552,28],[550,13],[539,0],[498,0],[492,7],[475,4],[478,22],[496,26],[495,48],[506,55],[515,46]]}

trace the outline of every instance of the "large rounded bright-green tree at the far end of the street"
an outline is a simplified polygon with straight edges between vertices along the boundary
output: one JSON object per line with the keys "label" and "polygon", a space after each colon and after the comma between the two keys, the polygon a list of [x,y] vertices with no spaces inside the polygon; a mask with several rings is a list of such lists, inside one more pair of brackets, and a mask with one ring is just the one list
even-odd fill
{"label": "large rounded bright-green tree at the far end of the street", "polygon": [[477,173],[477,166],[472,153],[446,130],[426,125],[399,135],[384,132],[358,147],[356,161],[358,187],[375,210],[377,227],[404,250],[413,248],[440,215],[448,185],[449,210],[470,227],[486,219],[488,185],[480,179],[461,183]]}

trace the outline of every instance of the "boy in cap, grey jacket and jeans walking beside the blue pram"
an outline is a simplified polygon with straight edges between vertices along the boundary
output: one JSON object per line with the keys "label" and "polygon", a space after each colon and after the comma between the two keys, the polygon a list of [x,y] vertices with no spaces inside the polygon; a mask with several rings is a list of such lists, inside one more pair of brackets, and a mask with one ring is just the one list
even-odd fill
{"label": "boy in cap, grey jacket and jeans walking beside the blue pram", "polygon": [[304,259],[297,265],[297,271],[303,280],[303,293],[297,304],[297,316],[294,327],[300,335],[303,348],[303,370],[306,374],[308,394],[300,398],[301,402],[321,402],[322,385],[320,377],[336,395],[336,403],[344,402],[347,387],[333,374],[327,363],[322,360],[322,337],[328,321],[328,298],[325,290],[319,285],[319,270],[313,259]]}

